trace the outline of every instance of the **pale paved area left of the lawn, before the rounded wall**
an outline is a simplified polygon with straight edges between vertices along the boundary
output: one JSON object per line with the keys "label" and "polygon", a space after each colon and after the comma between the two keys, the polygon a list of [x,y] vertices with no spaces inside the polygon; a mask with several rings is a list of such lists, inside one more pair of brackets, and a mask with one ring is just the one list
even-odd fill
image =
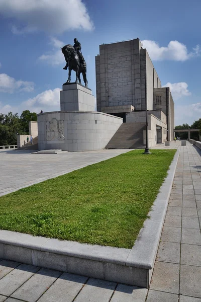
{"label": "pale paved area left of the lawn, before the rounded wall", "polygon": [[103,149],[34,156],[29,150],[0,150],[0,183],[3,187],[0,189],[0,196],[130,151],[131,149]]}

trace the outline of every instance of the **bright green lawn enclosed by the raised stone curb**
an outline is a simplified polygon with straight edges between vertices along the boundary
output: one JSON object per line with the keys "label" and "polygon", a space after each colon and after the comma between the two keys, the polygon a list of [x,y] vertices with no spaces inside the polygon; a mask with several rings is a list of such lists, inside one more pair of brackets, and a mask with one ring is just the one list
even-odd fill
{"label": "bright green lawn enclosed by the raised stone curb", "polygon": [[176,150],[151,152],[133,150],[0,197],[0,229],[131,248]]}

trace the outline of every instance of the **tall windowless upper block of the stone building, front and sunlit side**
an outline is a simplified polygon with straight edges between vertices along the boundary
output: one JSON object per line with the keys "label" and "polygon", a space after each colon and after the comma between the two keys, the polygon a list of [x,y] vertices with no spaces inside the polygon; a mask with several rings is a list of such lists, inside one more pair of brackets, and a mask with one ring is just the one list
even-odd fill
{"label": "tall windowless upper block of the stone building, front and sunlit side", "polygon": [[145,110],[145,75],[148,110],[153,110],[153,88],[161,82],[139,39],[100,45],[95,69],[97,110],[122,105]]}

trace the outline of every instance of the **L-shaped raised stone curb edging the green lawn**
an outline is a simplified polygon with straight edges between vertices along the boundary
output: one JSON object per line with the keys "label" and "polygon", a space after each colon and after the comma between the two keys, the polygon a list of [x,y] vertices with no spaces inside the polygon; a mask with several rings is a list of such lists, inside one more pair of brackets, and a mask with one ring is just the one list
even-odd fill
{"label": "L-shaped raised stone curb edging the green lawn", "polygon": [[132,249],[81,244],[0,231],[0,258],[89,277],[148,287],[163,228],[179,157],[168,176]]}

